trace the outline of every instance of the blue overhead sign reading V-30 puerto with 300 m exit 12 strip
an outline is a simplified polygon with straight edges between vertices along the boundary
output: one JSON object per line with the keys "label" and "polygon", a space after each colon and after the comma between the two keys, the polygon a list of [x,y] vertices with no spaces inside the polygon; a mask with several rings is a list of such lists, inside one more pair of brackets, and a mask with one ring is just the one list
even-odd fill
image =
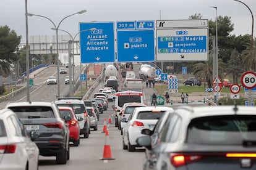
{"label": "blue overhead sign reading V-30 puerto with 300 m exit 12 strip", "polygon": [[155,61],[155,22],[116,22],[117,61]]}

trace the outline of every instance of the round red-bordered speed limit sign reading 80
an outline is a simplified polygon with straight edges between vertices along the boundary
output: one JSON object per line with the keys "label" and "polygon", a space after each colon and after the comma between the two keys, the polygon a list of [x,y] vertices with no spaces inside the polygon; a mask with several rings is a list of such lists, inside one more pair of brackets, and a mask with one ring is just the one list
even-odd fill
{"label": "round red-bordered speed limit sign reading 80", "polygon": [[245,72],[241,77],[242,86],[247,89],[253,89],[256,87],[256,73],[253,71]]}

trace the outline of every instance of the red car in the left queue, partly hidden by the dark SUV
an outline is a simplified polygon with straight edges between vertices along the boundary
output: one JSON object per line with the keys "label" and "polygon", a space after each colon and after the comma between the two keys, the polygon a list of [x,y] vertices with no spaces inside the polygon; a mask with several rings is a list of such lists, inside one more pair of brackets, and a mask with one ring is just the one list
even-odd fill
{"label": "red car in the left queue, partly hidden by the dark SUV", "polygon": [[69,127],[69,142],[73,142],[74,146],[77,147],[80,144],[80,127],[79,121],[75,117],[75,113],[70,107],[58,107],[59,113],[62,119],[70,117],[70,121],[66,121]]}

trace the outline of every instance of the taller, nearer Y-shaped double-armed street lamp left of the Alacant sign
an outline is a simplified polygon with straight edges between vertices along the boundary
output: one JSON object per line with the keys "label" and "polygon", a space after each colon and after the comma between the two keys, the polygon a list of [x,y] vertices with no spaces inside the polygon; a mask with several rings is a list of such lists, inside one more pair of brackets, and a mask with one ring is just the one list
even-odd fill
{"label": "taller, nearer Y-shaped double-armed street lamp left of the Alacant sign", "polygon": [[83,9],[79,12],[75,12],[74,14],[71,14],[71,15],[67,15],[67,17],[64,17],[62,18],[61,22],[59,22],[58,26],[55,25],[55,23],[53,22],[53,20],[51,20],[50,18],[48,17],[45,17],[43,15],[36,15],[36,14],[30,14],[30,13],[27,13],[28,16],[32,17],[32,16],[37,16],[37,17],[42,17],[42,18],[46,18],[48,19],[51,23],[53,23],[54,25],[54,28],[56,30],[56,44],[57,44],[57,47],[56,47],[56,51],[57,51],[57,86],[58,86],[58,95],[57,97],[61,97],[61,92],[60,92],[60,88],[59,88],[59,44],[58,44],[58,30],[59,30],[59,25],[61,25],[62,21],[68,17],[71,17],[72,15],[75,15],[75,14],[83,14],[84,12],[87,12],[87,10]]}

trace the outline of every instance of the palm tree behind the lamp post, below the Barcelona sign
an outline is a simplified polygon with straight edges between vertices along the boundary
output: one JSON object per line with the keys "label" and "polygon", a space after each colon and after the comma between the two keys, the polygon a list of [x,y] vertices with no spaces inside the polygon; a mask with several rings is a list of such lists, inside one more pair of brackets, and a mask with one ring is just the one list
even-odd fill
{"label": "palm tree behind the lamp post, below the Barcelona sign", "polygon": [[[221,59],[218,59],[218,75],[224,77],[226,73],[226,64]],[[209,55],[209,60],[205,62],[195,63],[193,66],[193,75],[200,79],[205,79],[208,83],[208,87],[212,87],[213,81],[213,54]]]}

